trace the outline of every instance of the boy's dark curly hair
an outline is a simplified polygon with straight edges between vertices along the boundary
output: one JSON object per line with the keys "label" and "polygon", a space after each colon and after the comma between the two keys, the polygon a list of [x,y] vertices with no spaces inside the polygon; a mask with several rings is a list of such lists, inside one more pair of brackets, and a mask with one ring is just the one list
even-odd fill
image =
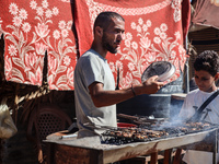
{"label": "boy's dark curly hair", "polygon": [[196,71],[207,71],[212,77],[219,71],[219,56],[215,50],[205,50],[199,54],[194,62]]}

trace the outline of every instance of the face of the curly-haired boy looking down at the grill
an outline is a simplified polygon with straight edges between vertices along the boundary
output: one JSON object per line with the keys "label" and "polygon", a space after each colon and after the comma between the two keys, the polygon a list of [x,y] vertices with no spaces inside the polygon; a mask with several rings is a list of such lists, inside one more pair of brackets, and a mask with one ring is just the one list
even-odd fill
{"label": "face of the curly-haired boy looking down at the grill", "polygon": [[209,72],[200,70],[195,71],[195,82],[200,91],[212,92],[217,90],[215,81],[218,79],[218,73],[212,77]]}

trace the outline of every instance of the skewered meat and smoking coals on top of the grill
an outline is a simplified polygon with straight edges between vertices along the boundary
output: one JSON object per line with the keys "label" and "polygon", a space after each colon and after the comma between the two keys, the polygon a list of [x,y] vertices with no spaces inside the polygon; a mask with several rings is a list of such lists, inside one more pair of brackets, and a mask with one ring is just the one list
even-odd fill
{"label": "skewered meat and smoking coals on top of the grill", "polygon": [[102,143],[126,144],[130,142],[149,142],[160,139],[174,138],[188,133],[210,130],[216,125],[208,122],[152,122],[139,125],[137,128],[114,128],[106,130],[102,136]]}

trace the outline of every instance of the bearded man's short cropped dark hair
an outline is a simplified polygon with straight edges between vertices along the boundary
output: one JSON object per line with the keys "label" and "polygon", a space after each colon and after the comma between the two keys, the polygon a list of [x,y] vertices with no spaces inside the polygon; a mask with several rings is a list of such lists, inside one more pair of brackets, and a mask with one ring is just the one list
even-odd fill
{"label": "bearded man's short cropped dark hair", "polygon": [[117,17],[117,19],[120,19],[120,20],[125,21],[124,17],[122,15],[119,15],[118,13],[116,13],[116,12],[112,12],[112,11],[101,12],[97,15],[97,17],[95,19],[93,30],[96,26],[100,26],[103,30],[106,30],[108,27],[108,25],[110,25],[110,23],[111,23],[113,17]]}

